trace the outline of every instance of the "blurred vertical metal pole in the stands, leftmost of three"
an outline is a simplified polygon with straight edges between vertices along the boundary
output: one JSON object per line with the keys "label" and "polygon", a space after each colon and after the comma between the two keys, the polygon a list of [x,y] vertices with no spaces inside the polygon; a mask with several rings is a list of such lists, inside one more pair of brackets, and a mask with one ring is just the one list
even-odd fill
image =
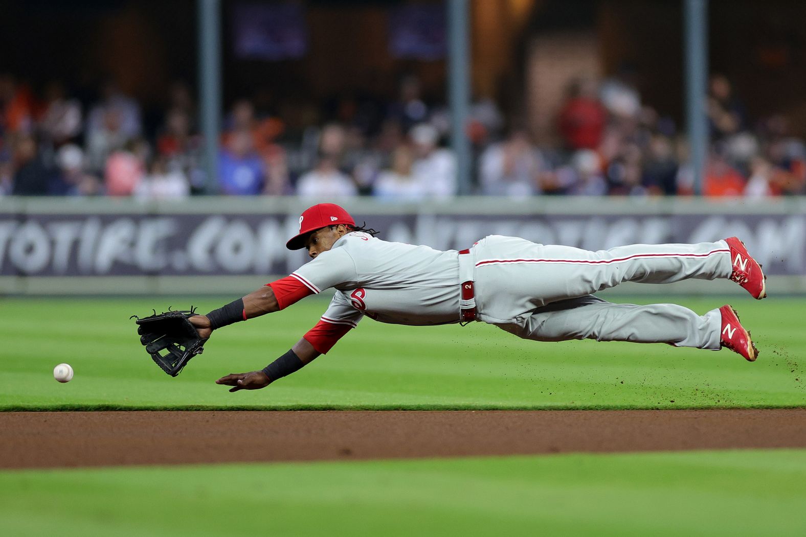
{"label": "blurred vertical metal pole in the stands, leftmost of three", "polygon": [[221,4],[197,0],[199,119],[204,136],[206,184],[218,192],[218,135],[221,116]]}

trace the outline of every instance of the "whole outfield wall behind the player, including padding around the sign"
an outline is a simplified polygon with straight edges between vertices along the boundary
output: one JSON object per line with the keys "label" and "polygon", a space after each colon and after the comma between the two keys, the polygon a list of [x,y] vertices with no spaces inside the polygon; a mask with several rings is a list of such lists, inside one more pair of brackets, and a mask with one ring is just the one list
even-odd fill
{"label": "whole outfield wall behind the player, including padding around the sign", "polygon": [[[243,294],[306,261],[285,241],[310,203],[206,197],[140,203],[114,198],[0,199],[0,293]],[[345,200],[380,237],[460,250],[488,234],[599,250],[738,235],[771,288],[806,291],[806,199],[468,197],[440,203]],[[663,288],[661,288],[663,287]],[[621,291],[731,292],[727,282],[632,284]]]}

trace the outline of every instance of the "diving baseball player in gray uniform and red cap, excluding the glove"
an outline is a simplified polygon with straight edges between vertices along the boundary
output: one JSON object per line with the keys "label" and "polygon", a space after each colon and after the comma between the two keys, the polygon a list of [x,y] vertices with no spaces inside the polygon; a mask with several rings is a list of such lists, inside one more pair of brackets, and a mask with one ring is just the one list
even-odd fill
{"label": "diving baseball player in gray uniform and red cap, excluding the glove", "polygon": [[322,319],[263,370],[216,381],[230,391],[268,386],[327,353],[364,316],[382,323],[484,321],[536,341],[634,341],[718,350],[754,361],[758,350],[729,305],[700,316],[676,304],[611,304],[594,295],[622,282],[732,279],[767,295],[762,268],[732,237],[700,244],[619,246],[596,252],[490,235],[467,250],[386,242],[344,209],[318,204],[300,217],[286,246],[312,261],[291,275],[210,312],[190,317],[199,337],[227,324],[278,312],[333,287]]}

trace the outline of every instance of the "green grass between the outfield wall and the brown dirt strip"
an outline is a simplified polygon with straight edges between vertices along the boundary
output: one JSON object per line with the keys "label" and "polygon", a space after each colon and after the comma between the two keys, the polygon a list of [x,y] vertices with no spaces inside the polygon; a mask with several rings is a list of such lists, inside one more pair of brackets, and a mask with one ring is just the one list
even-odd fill
{"label": "green grass between the outfield wall and the brown dirt strip", "polygon": [[[202,312],[225,299],[194,302]],[[621,300],[625,302],[626,300]],[[635,300],[646,302],[646,299]],[[657,300],[656,300],[657,301]],[[720,297],[671,299],[696,312]],[[522,341],[488,324],[405,327],[366,319],[326,356],[265,390],[214,380],[264,367],[322,314],[322,299],[215,333],[177,378],[139,345],[133,313],[177,299],[4,299],[0,409],[695,408],[806,405],[803,299],[732,299],[761,355],[668,345]],[[59,384],[52,368],[73,366]]]}

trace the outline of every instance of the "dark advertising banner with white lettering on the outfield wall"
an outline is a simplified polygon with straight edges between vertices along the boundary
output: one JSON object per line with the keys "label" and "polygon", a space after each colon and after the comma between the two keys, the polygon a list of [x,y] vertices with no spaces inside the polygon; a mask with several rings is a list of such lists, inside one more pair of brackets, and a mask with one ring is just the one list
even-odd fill
{"label": "dark advertising banner with white lettering on the outfield wall", "polygon": [[[298,214],[0,214],[0,276],[280,275]],[[489,234],[600,250],[740,236],[770,275],[806,275],[803,214],[361,213],[391,241],[461,250]]]}

